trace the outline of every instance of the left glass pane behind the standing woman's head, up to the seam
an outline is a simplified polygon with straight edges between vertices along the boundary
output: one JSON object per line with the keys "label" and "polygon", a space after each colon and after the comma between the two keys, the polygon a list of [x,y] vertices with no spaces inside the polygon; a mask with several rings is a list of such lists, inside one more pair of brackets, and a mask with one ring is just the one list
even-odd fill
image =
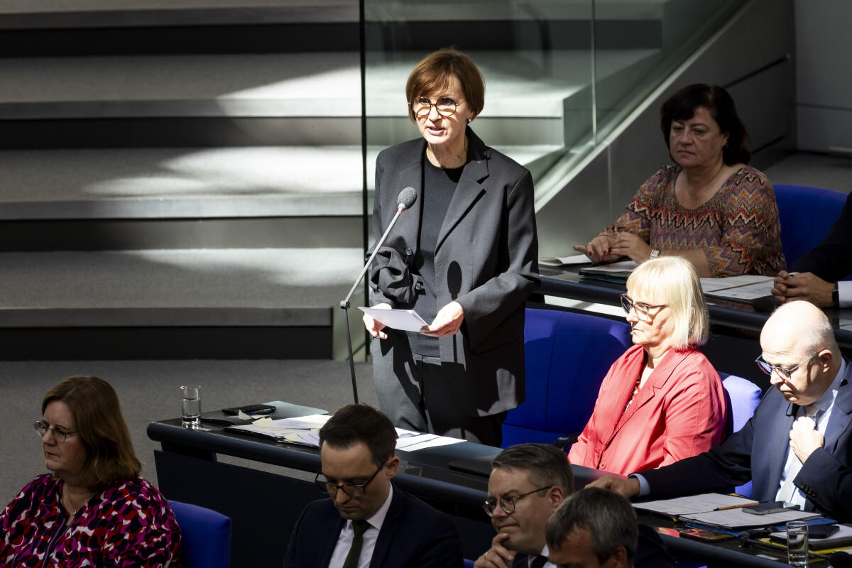
{"label": "left glass pane behind the standing woman's head, up to the seam", "polygon": [[423,56],[449,46],[485,77],[485,107],[471,128],[533,177],[593,128],[591,0],[365,2],[370,168],[382,148],[419,136],[406,79]]}

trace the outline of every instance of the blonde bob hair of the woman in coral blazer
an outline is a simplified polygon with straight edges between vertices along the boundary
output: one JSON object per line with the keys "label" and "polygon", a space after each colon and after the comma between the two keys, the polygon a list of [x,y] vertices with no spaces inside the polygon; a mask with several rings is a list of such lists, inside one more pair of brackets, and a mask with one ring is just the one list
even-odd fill
{"label": "blonde bob hair of the woman in coral blazer", "polygon": [[675,322],[672,335],[676,349],[707,342],[710,316],[692,262],[681,256],[659,256],[644,261],[627,278],[627,290],[653,298],[653,304],[669,307]]}

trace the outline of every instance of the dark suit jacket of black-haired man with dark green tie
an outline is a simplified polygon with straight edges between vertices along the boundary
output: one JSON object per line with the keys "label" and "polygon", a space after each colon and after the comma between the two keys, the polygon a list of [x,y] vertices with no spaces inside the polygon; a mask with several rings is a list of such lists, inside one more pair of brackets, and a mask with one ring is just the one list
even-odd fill
{"label": "dark suit jacket of black-haired man with dark green tie", "polygon": [[[325,568],[345,522],[331,499],[308,504],[290,537],[285,568]],[[370,567],[418,566],[461,568],[462,542],[446,514],[394,487]]]}

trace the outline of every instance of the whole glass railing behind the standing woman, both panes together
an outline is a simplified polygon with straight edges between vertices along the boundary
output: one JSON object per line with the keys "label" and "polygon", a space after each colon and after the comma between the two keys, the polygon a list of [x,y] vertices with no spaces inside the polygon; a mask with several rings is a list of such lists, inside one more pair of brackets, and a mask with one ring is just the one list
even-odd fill
{"label": "whole glass railing behind the standing woman, both panes together", "polygon": [[746,0],[363,2],[370,203],[377,152],[419,136],[407,115],[409,72],[456,46],[486,79],[471,127],[530,169],[538,209]]}

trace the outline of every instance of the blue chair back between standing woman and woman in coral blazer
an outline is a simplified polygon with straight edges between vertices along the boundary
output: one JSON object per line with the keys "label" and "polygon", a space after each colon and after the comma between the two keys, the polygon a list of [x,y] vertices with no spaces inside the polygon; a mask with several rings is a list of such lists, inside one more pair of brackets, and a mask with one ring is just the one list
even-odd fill
{"label": "blue chair back between standing woman and woman in coral blazer", "polygon": [[503,447],[550,444],[563,434],[581,432],[603,377],[630,345],[630,326],[624,321],[527,308],[527,399],[509,410]]}

